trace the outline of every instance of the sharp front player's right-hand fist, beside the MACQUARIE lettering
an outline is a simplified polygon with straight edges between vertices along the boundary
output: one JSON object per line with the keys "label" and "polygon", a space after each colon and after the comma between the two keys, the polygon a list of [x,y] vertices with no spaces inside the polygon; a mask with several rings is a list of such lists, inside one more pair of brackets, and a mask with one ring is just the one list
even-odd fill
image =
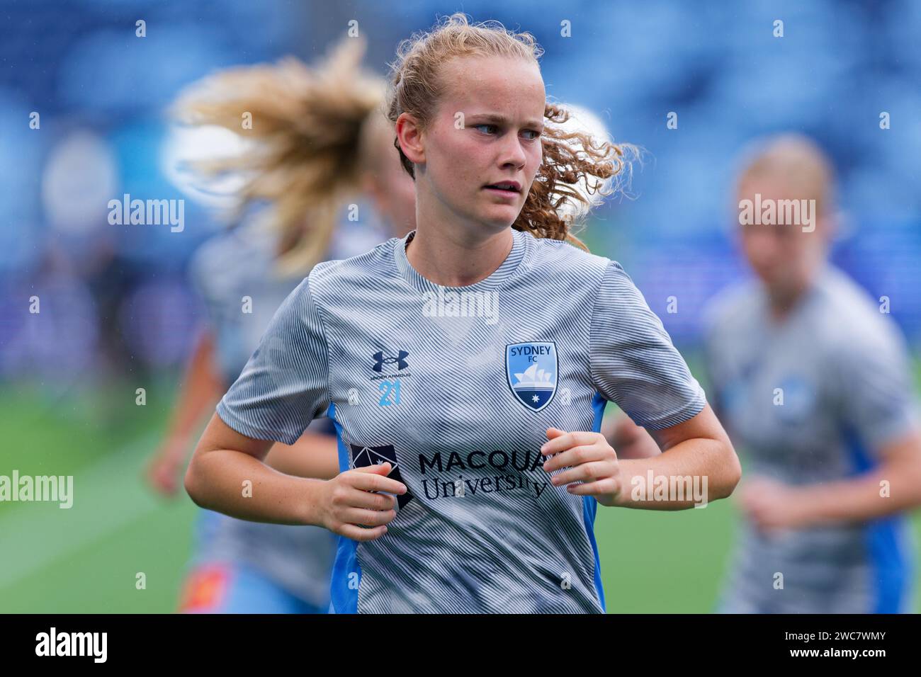
{"label": "sharp front player's right-hand fist, beside the MACQUARIE lettering", "polygon": [[[621,469],[617,454],[600,433],[571,432],[547,428],[547,443],[541,447],[544,456],[556,454],[543,464],[548,473],[565,468],[550,481],[554,486],[566,485],[566,491],[577,496],[595,496],[602,506],[612,506],[621,493]],[[581,482],[582,484],[573,484]]]}

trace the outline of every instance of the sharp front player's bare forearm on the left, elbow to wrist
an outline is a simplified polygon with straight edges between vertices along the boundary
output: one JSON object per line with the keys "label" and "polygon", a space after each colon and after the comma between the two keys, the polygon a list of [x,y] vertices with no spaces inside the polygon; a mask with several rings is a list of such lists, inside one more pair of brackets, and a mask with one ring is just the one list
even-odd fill
{"label": "sharp front player's bare forearm on the left, elbow to wrist", "polygon": [[322,484],[233,449],[196,451],[185,476],[186,491],[201,508],[277,524],[319,524]]}

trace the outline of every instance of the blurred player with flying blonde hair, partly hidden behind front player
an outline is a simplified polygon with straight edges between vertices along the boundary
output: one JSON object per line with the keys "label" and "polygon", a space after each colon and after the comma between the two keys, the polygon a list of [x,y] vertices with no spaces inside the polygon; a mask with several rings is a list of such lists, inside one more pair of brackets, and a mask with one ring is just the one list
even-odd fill
{"label": "blurred player with flying blonde hair, partly hidden behind front player", "polygon": [[[205,243],[193,259],[192,279],[208,322],[168,439],[150,467],[150,480],[163,494],[175,492],[202,414],[239,376],[275,310],[317,256],[331,240],[332,258],[345,258],[349,245],[352,253],[364,251],[346,240],[354,233],[333,232],[346,198],[366,193],[393,234],[414,226],[413,182],[380,110],[385,85],[359,71],[362,53],[360,43],[346,40],[312,69],[297,62],[234,69],[181,100],[180,111],[191,122],[223,123],[256,139],[256,146],[231,164],[256,177],[244,201],[270,200],[276,228],[266,228],[265,219],[251,220]],[[241,127],[241,111],[250,112],[251,130]],[[311,125],[301,128],[305,120]],[[315,428],[294,448],[276,445],[268,462],[286,473],[334,476],[334,430]],[[335,553],[329,531],[243,521],[210,510],[202,511],[196,531],[182,611],[326,613]]]}

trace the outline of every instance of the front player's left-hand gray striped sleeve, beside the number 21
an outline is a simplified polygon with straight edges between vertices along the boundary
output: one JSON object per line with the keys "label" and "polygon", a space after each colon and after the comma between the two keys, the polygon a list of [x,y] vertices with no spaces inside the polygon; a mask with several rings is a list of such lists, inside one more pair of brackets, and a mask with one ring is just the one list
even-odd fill
{"label": "front player's left-hand gray striped sleeve, beside the number 21", "polygon": [[328,354],[309,277],[285,299],[239,378],[217,404],[249,438],[294,444],[329,407]]}

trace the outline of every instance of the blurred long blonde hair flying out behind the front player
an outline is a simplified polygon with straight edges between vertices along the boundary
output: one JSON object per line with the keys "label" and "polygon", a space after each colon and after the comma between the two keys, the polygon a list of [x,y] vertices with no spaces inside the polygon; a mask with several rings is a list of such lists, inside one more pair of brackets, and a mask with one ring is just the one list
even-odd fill
{"label": "blurred long blonde hair flying out behind the front player", "polygon": [[[365,42],[344,38],[321,64],[293,57],[229,68],[192,85],[174,104],[181,121],[219,125],[253,140],[246,152],[196,163],[206,175],[242,172],[239,213],[268,201],[280,236],[279,272],[321,260],[339,209],[356,193],[370,141],[366,122],[382,117],[386,87],[361,67]],[[251,129],[244,129],[245,113]]]}

